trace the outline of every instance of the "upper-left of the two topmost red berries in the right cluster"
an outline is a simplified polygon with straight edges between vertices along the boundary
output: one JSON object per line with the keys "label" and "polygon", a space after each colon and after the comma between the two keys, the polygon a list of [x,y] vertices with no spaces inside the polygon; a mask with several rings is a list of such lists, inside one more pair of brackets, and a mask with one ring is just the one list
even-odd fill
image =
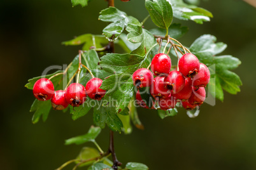
{"label": "upper-left of the two topmost red berries in the right cluster", "polygon": [[155,55],[151,62],[153,75],[169,74],[171,70],[171,58],[166,54],[159,53]]}

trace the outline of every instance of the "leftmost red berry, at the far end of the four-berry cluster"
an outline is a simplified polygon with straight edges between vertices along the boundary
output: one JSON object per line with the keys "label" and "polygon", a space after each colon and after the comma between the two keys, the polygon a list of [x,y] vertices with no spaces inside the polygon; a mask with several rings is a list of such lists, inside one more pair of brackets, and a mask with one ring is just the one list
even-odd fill
{"label": "leftmost red berry, at the far end of the four-berry cluster", "polygon": [[33,87],[33,94],[38,100],[50,100],[54,95],[54,86],[52,81],[46,78],[36,81]]}

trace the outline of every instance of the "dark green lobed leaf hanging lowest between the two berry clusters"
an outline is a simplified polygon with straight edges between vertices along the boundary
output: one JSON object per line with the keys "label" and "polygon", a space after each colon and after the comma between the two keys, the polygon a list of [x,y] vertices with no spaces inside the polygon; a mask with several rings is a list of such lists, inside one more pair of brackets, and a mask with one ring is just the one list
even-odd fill
{"label": "dark green lobed leaf hanging lowest between the two berry clusters", "polygon": [[122,121],[117,116],[115,107],[112,106],[104,107],[102,104],[97,104],[94,107],[93,119],[94,124],[102,129],[105,128],[105,124],[107,124],[112,131],[121,132],[121,129],[123,128]]}

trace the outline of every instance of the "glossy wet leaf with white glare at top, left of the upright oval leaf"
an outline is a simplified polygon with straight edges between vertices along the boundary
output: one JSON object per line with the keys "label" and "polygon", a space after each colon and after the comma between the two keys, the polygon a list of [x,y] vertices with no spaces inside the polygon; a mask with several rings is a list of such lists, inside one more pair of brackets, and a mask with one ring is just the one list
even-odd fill
{"label": "glossy wet leaf with white glare at top, left of the upright oval leaf", "polygon": [[102,10],[99,15],[99,20],[102,20],[103,22],[111,22],[103,29],[103,34],[110,41],[116,40],[118,36],[120,36],[129,21],[126,13],[115,7],[109,7]]}

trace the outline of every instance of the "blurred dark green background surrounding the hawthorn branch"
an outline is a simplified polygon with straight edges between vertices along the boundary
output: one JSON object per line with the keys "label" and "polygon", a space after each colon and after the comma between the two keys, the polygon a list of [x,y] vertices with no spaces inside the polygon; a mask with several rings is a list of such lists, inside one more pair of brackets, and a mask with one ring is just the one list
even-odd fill
{"label": "blurred dark green background surrounding the hawthorn branch", "polygon": [[[148,15],[144,2],[116,0],[116,6],[142,21]],[[72,8],[70,0],[1,0],[0,169],[55,169],[75,158],[83,146],[93,146],[64,146],[67,138],[88,131],[92,112],[73,121],[68,113],[51,111],[45,123],[32,124],[29,108],[34,96],[24,85],[49,65],[73,60],[79,47],[60,42],[85,33],[101,34],[106,23],[97,17],[106,5],[103,0],[94,0],[87,8]],[[197,37],[212,34],[228,44],[222,54],[242,62],[235,70],[243,81],[241,93],[225,93],[224,103],[217,101],[215,107],[204,104],[196,119],[180,110],[176,117],[161,120],[157,112],[139,109],[145,130],[115,133],[115,150],[124,164],[142,162],[154,170],[256,169],[256,10],[240,0],[202,1],[200,6],[214,18],[203,25],[174,20],[189,27],[180,41],[190,46]],[[145,27],[154,26],[148,20]],[[105,128],[97,138],[104,150],[108,135]]]}

